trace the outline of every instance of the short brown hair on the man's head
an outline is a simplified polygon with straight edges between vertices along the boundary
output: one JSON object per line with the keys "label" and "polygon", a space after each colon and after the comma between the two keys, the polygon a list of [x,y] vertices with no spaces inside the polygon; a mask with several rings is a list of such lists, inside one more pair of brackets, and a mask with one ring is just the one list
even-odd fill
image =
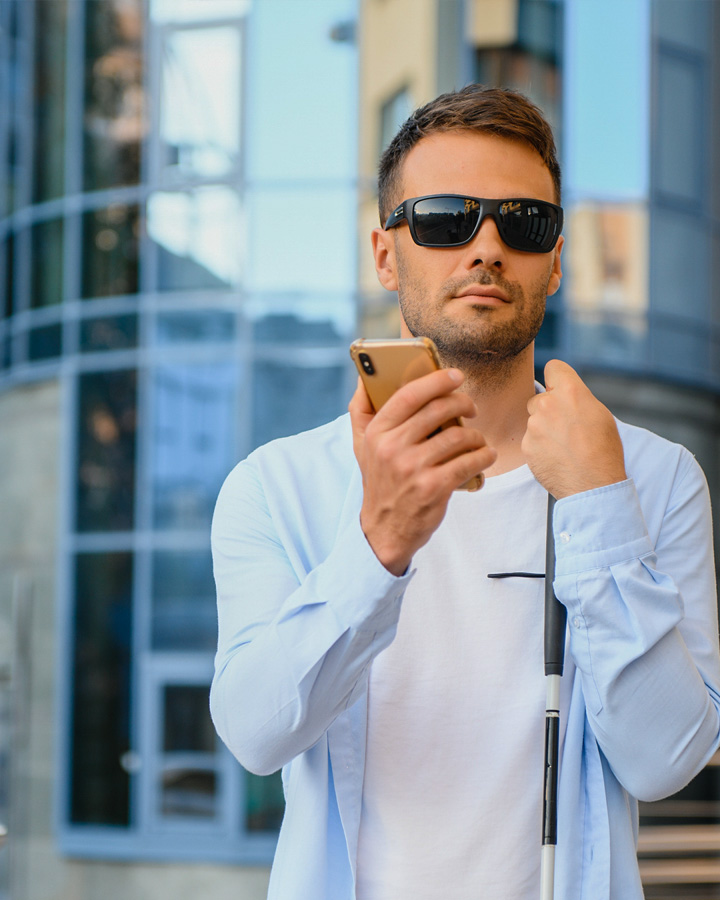
{"label": "short brown hair on the man's head", "polygon": [[560,203],[560,166],[555,140],[542,112],[519,91],[469,84],[459,91],[441,94],[416,109],[380,157],[378,205],[381,225],[402,199],[397,194],[400,170],[407,154],[421,138],[444,131],[476,131],[528,144],[548,167],[555,186],[555,202]]}

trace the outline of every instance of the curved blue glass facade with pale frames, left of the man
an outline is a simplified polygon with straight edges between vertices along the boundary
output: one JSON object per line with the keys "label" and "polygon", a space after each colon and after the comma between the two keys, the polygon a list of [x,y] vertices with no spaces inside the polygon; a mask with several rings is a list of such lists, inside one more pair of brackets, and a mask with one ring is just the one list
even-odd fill
{"label": "curved blue glass facade with pale frames, left of the man", "polygon": [[[355,0],[0,4],[0,388],[67,423],[69,854],[265,862],[279,776],[219,745],[209,525],[353,379]],[[332,223],[332,227],[328,223]]]}

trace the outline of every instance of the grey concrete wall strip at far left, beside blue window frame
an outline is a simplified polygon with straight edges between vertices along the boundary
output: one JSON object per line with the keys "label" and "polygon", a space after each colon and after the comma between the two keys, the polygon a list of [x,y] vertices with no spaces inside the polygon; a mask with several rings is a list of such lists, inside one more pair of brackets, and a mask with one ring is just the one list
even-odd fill
{"label": "grey concrete wall strip at far left, beside blue window frame", "polygon": [[[0,393],[0,629],[10,734],[9,871],[13,900],[51,896],[54,872],[55,588],[60,392],[56,381]],[[8,474],[11,473],[11,474]]]}

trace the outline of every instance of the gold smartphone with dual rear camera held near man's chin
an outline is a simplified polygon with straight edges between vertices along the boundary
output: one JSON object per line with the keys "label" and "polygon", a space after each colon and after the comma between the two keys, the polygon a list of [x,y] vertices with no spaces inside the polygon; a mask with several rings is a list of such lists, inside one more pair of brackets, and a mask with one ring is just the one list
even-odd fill
{"label": "gold smartphone with dual rear camera held near man's chin", "polygon": [[[437,347],[426,337],[388,340],[360,338],[350,345],[350,356],[357,366],[375,412],[398,388],[440,368]],[[462,424],[461,419],[450,419],[440,428]],[[461,485],[459,490],[477,491],[482,487],[483,481],[482,475],[476,475]]]}

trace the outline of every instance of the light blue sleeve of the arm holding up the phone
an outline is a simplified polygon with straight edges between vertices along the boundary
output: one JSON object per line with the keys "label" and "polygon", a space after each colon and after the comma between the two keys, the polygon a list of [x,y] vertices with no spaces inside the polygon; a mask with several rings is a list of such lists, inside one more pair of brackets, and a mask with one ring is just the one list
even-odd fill
{"label": "light blue sleeve of the arm holding up the phone", "polygon": [[213,721],[245,768],[269,774],[311,747],[365,690],[370,662],[395,636],[412,573],[396,578],[382,566],[357,515],[327,558],[299,576],[248,461],[220,493],[212,548]]}

